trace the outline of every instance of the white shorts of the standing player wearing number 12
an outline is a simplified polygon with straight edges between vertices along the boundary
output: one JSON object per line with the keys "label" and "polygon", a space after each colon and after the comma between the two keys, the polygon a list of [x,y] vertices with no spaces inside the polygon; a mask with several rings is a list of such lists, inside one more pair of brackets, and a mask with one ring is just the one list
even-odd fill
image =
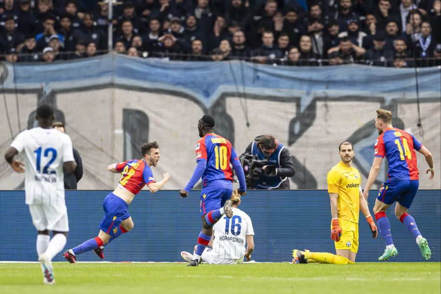
{"label": "white shorts of the standing player wearing number 12", "polygon": [[66,205],[29,204],[29,212],[37,231],[69,232]]}

